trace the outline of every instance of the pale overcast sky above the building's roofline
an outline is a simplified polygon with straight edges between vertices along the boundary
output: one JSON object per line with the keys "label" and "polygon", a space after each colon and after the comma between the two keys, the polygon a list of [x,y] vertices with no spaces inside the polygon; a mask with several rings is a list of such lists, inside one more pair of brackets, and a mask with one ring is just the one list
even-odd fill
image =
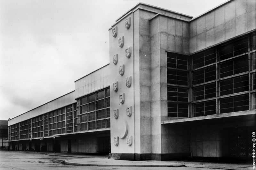
{"label": "pale overcast sky above the building's roofline", "polygon": [[[108,28],[139,0],[0,0],[0,120],[109,63]],[[226,0],[141,0],[196,17]]]}

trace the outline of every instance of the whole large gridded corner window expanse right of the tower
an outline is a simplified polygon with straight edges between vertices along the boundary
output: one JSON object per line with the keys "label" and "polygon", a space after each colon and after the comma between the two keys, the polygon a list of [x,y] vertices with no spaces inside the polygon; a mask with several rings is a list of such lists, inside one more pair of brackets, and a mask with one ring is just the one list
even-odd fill
{"label": "whole large gridded corner window expanse right of the tower", "polygon": [[191,56],[167,52],[168,116],[256,109],[255,47],[254,32]]}

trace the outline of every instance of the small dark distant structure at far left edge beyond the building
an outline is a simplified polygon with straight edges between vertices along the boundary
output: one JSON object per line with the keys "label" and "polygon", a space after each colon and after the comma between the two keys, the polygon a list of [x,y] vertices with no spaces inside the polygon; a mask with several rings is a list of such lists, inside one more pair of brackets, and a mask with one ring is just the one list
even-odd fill
{"label": "small dark distant structure at far left edge beyond the building", "polygon": [[0,148],[8,147],[8,121],[0,120]]}

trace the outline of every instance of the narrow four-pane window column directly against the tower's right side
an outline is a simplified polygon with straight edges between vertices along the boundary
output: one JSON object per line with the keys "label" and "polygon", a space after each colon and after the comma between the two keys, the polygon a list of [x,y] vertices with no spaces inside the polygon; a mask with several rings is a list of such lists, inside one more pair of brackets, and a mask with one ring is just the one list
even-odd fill
{"label": "narrow four-pane window column directly against the tower's right side", "polygon": [[188,117],[188,56],[167,53],[168,116]]}

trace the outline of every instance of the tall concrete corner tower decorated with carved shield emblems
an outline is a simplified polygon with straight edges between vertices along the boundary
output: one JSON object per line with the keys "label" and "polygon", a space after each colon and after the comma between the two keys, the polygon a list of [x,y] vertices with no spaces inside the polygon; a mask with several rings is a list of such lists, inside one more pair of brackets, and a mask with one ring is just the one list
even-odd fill
{"label": "tall concrete corner tower decorated with carved shield emblems", "polygon": [[[188,53],[188,37],[182,33],[188,36],[191,18],[139,3],[109,28],[111,157],[158,159],[162,153],[161,121],[167,120],[167,45]],[[183,47],[167,42],[168,33],[175,33],[176,20]]]}

